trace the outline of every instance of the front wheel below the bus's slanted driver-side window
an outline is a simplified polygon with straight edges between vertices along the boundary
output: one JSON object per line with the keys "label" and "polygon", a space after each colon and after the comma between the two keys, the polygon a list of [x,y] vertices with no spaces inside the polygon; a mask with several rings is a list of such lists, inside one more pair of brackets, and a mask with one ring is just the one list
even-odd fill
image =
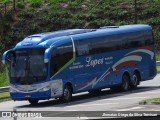
{"label": "front wheel below the bus's slanted driver-side window", "polygon": [[60,98],[63,102],[69,102],[72,99],[72,90],[71,87],[65,85],[63,96]]}

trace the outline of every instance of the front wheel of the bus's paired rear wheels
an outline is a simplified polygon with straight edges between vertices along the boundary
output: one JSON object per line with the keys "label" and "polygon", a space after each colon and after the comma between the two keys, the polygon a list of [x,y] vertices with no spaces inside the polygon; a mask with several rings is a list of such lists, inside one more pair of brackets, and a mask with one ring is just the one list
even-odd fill
{"label": "front wheel of the bus's paired rear wheels", "polygon": [[124,74],[122,77],[121,89],[122,91],[127,91],[129,89],[130,78],[127,74]]}

